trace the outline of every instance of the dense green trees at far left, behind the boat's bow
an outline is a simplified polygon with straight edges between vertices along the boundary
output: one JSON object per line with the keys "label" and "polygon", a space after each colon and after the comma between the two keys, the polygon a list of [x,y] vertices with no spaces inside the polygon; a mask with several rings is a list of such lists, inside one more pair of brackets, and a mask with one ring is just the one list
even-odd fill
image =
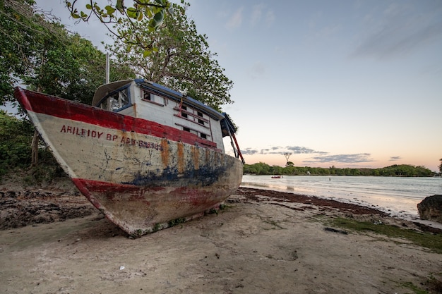
{"label": "dense green trees at far left, behind the boat's bow", "polygon": [[[95,88],[104,80],[104,54],[90,41],[68,32],[58,20],[38,13],[34,1],[2,4],[0,30],[9,33],[0,41],[6,48],[0,59],[2,102],[12,101],[13,85],[20,80],[31,90],[90,104]],[[119,68],[114,71],[116,78],[135,76],[129,68]],[[35,131],[31,166],[37,165],[38,146]]]}

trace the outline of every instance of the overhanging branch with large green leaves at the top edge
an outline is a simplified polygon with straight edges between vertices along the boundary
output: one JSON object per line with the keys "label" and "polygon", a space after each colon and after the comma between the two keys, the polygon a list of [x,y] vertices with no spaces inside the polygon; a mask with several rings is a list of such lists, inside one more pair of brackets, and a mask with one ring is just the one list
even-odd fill
{"label": "overhanging branch with large green leaves at the top edge", "polygon": [[[66,7],[73,18],[88,22],[91,16],[97,17],[114,37],[123,43],[140,48],[144,56],[155,49],[155,37],[150,33],[155,32],[162,25],[166,11],[172,12],[172,6],[167,0],[133,0],[134,4],[129,8],[124,6],[124,0],[102,0],[99,1],[100,4],[90,0],[90,3],[85,6],[86,12],[78,11],[76,2],[77,0],[65,0]],[[141,20],[143,20],[145,30],[137,28],[137,23]],[[124,32],[116,30],[114,25],[120,23],[126,23],[129,30]]]}

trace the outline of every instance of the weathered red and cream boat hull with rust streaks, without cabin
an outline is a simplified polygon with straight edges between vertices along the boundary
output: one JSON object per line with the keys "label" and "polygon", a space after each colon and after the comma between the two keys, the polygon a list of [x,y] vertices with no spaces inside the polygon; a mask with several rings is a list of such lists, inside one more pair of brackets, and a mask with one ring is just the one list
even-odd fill
{"label": "weathered red and cream boat hull with rust streaks, without cabin", "polygon": [[80,192],[133,237],[201,216],[241,183],[241,161],[191,133],[36,92],[16,98]]}

